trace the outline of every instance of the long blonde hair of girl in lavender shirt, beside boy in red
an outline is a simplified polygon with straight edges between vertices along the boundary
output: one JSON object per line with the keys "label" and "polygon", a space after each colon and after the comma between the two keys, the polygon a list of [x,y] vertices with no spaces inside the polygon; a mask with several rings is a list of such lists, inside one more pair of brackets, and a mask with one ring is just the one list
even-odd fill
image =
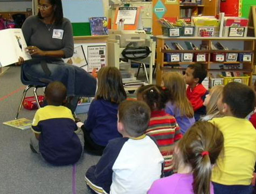
{"label": "long blonde hair of girl in lavender shirt, beside boy in red", "polygon": [[193,117],[194,112],[189,99],[186,97],[186,83],[183,76],[177,72],[168,72],[163,75],[163,84],[170,91],[170,101],[176,105],[175,112],[179,110],[181,116]]}

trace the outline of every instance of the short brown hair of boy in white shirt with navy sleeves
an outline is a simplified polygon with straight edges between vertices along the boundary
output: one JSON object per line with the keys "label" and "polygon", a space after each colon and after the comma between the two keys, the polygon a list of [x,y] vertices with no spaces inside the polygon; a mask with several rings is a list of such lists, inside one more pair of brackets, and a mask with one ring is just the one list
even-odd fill
{"label": "short brown hair of boy in white shirt with navy sleeves", "polygon": [[119,121],[132,137],[139,137],[145,133],[150,114],[150,108],[143,101],[125,100],[120,103],[118,109]]}

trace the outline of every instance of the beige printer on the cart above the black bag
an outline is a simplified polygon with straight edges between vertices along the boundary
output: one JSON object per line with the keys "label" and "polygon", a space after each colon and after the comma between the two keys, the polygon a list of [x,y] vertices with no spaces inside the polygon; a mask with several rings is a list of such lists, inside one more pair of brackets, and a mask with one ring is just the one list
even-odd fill
{"label": "beige printer on the cart above the black bag", "polygon": [[109,39],[120,40],[120,47],[144,46],[147,34],[144,30],[108,30]]}

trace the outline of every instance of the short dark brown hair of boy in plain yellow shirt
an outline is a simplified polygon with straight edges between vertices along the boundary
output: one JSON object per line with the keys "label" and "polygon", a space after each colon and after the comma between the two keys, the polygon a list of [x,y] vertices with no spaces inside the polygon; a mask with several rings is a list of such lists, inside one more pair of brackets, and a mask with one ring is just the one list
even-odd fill
{"label": "short dark brown hair of boy in plain yellow shirt", "polygon": [[245,118],[255,107],[255,92],[239,82],[230,82],[223,89],[223,103],[229,105],[233,116]]}

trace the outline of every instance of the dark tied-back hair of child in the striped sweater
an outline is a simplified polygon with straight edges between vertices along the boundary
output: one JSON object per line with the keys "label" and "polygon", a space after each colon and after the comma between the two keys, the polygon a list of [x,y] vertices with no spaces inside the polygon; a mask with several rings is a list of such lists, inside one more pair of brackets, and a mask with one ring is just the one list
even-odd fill
{"label": "dark tied-back hair of child in the striped sweater", "polygon": [[167,88],[150,84],[137,89],[137,98],[139,96],[141,96],[151,110],[162,110],[170,99],[170,92]]}

